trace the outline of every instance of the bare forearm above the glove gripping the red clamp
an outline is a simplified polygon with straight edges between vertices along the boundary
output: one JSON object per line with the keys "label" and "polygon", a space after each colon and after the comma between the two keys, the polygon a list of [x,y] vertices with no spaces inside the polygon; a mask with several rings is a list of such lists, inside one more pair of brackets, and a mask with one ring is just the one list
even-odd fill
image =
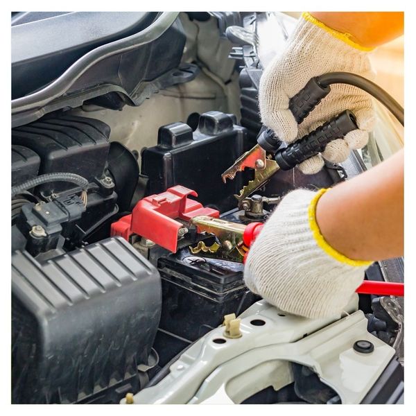
{"label": "bare forearm above the glove gripping the red clamp", "polygon": [[350,259],[403,255],[404,150],[324,193],[316,220],[327,243]]}

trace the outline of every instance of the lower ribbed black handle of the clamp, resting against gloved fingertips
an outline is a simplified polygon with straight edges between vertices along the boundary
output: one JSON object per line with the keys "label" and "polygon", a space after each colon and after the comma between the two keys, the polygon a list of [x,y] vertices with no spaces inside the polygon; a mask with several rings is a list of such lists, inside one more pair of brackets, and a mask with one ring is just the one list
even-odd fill
{"label": "lower ribbed black handle of the clamp, resting against gloved fingertips", "polygon": [[347,133],[357,128],[356,117],[349,110],[345,110],[313,130],[309,135],[279,150],[275,154],[275,160],[282,170],[288,171],[297,164],[309,159],[309,157],[323,152],[325,146],[330,141],[344,137]]}

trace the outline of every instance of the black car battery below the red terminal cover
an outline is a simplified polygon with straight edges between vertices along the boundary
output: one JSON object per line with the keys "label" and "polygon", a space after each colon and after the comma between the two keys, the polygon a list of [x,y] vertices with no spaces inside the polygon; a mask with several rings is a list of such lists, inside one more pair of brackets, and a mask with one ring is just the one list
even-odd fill
{"label": "black car battery below the red terminal cover", "polygon": [[193,255],[189,248],[160,257],[162,316],[155,341],[160,365],[259,300],[243,281],[241,263]]}

